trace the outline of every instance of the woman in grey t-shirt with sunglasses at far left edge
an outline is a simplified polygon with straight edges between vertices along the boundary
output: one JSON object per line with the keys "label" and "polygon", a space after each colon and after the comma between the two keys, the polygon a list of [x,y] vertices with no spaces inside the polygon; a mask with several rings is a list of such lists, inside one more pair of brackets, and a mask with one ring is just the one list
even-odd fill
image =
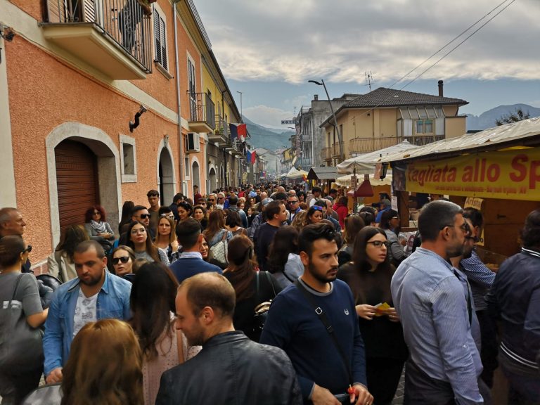
{"label": "woman in grey t-shirt with sunglasses at far left edge", "polygon": [[[9,347],[2,350],[0,356],[0,396],[6,404],[19,404],[30,391],[37,388],[43,372],[43,332],[37,328],[45,322],[49,309],[41,307],[34,274],[20,271],[31,251],[32,246],[27,245],[20,236],[4,236],[0,239],[0,302],[4,306],[11,303],[11,307],[4,308],[0,316],[0,341],[3,347]],[[18,310],[15,303],[18,303]],[[34,339],[13,341],[23,336],[14,333],[13,317],[18,314],[8,314],[8,311],[18,311],[20,318],[16,322],[27,323],[20,326],[27,328],[27,335],[34,332]],[[27,355],[29,353],[35,356]]]}

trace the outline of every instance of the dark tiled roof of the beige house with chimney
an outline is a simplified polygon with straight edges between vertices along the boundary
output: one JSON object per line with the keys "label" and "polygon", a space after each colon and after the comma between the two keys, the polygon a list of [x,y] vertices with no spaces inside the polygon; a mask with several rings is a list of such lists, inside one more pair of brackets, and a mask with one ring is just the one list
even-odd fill
{"label": "dark tiled roof of the beige house with chimney", "polygon": [[468,101],[461,98],[439,97],[432,94],[413,93],[379,87],[368,94],[348,101],[342,108],[375,108],[375,107],[399,107],[406,105],[431,105],[431,104],[458,104],[465,105]]}

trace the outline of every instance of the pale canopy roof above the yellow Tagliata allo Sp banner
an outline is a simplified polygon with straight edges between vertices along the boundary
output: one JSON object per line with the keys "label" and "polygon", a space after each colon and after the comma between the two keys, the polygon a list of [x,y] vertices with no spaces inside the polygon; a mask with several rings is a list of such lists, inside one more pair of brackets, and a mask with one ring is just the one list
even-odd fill
{"label": "pale canopy roof above the yellow Tagliata allo Sp banner", "polygon": [[471,153],[473,150],[485,150],[491,146],[500,145],[501,148],[504,148],[506,143],[513,146],[519,143],[538,145],[540,143],[540,117],[484,129],[476,134],[442,139],[442,141],[428,143],[428,145],[413,150],[402,150],[392,153],[392,155],[383,156],[380,162],[397,162],[398,160],[417,159],[429,155],[462,155]]}

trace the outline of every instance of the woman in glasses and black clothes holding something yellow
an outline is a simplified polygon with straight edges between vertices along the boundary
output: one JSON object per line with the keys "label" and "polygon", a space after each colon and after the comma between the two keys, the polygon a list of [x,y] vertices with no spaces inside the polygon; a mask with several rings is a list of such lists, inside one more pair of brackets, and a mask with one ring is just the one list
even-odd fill
{"label": "woman in glasses and black clothes holding something yellow", "polygon": [[[364,227],[354,240],[352,262],[338,271],[338,278],[349,285],[356,301],[369,392],[377,405],[392,404],[408,355],[390,292],[395,269],[387,255],[387,244],[385,231]],[[380,309],[381,304],[386,309]]]}

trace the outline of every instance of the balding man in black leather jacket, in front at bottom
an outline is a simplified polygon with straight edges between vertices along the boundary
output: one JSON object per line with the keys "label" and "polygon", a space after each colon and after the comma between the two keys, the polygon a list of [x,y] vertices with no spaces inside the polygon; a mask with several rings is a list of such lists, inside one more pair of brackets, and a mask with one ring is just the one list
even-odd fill
{"label": "balding man in black leather jacket, in front at bottom", "polygon": [[156,405],[302,404],[296,372],[278,347],[234,330],[234,289],[224,276],[187,278],[176,295],[176,328],[201,352],[162,374]]}

